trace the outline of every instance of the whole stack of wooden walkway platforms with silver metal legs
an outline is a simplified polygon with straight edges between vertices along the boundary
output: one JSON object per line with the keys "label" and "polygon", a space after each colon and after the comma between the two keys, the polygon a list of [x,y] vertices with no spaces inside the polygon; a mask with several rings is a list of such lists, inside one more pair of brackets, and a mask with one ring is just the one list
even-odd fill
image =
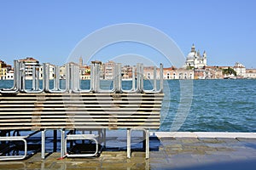
{"label": "whole stack of wooden walkway platforms with silver metal legs", "polygon": [[[36,131],[35,133],[37,133],[38,129],[40,129],[42,132],[42,159],[45,158],[45,132],[49,130],[61,131],[61,157],[63,157],[67,154],[67,140],[89,139],[94,141],[96,145],[98,144],[96,135],[66,134],[65,129],[125,128],[127,129],[128,158],[131,158],[131,131],[141,130],[144,132],[146,139],[146,158],[149,158],[148,129],[150,129],[150,127],[154,129],[160,127],[160,105],[161,100],[163,99],[163,65],[160,64],[159,71],[157,71],[156,66],[154,66],[154,80],[153,88],[151,90],[145,90],[143,87],[143,64],[137,64],[132,67],[132,87],[130,90],[124,90],[122,88],[122,71],[120,63],[116,63],[113,67],[113,88],[109,90],[100,88],[101,68],[98,63],[92,63],[90,65],[89,89],[81,89],[80,87],[79,65],[73,63],[65,65],[65,89],[61,89],[60,86],[60,67],[57,65],[51,66],[53,66],[55,72],[52,89],[49,88],[49,63],[33,65],[32,88],[27,89],[26,65],[19,60],[15,60],[14,87],[0,89],[0,101],[2,102],[2,104],[0,103],[0,122],[3,122],[3,125],[0,125],[0,130],[23,129],[34,130]],[[39,86],[41,78],[39,77],[40,68],[42,68],[43,71],[43,84],[41,87]],[[159,75],[157,76],[158,72]],[[159,87],[157,87],[158,79],[160,81]],[[79,95],[79,97],[75,95]],[[72,98],[74,100],[68,100],[67,98]],[[88,104],[88,100],[86,100],[87,98],[90,98],[90,102],[92,103]],[[25,101],[22,99],[25,99]],[[110,99],[109,101],[112,101],[113,103],[109,105],[106,99]],[[140,103],[137,103],[137,99],[141,99]],[[21,105],[20,102],[25,104]],[[87,105],[84,105],[83,102]],[[55,107],[59,108],[60,111],[56,111]],[[17,111],[20,114],[19,116],[17,115]],[[131,111],[135,112],[129,115]],[[62,117],[63,113],[66,113],[64,117]],[[52,114],[55,115],[53,116]],[[82,124],[79,121],[76,122],[78,119],[75,116],[76,114],[82,117],[81,119],[83,119],[86,124]],[[81,114],[84,115],[81,116]],[[55,119],[58,120],[55,121]],[[5,120],[10,121],[9,125],[4,125],[4,123],[8,123],[4,122]],[[133,120],[135,121],[133,122]],[[11,127],[11,125],[14,125],[15,127]],[[26,158],[26,138],[29,136],[30,135],[0,137],[0,141],[17,140],[23,141],[25,145],[24,156],[1,156],[0,161],[21,160]],[[96,148],[96,152],[97,151],[98,148]],[[75,154],[73,156],[86,155]],[[87,156],[96,156],[96,153]]]}

